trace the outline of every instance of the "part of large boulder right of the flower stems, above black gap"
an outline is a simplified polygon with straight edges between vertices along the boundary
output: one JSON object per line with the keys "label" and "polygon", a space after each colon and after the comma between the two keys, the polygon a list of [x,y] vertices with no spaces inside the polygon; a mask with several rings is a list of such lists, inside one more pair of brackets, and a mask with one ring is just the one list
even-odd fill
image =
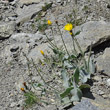
{"label": "part of large boulder right of the flower stems, above black gap", "polygon": [[[75,28],[80,34],[76,36],[83,51],[92,48],[110,39],[110,22],[104,21],[90,21]],[[74,30],[73,30],[74,32]]]}

